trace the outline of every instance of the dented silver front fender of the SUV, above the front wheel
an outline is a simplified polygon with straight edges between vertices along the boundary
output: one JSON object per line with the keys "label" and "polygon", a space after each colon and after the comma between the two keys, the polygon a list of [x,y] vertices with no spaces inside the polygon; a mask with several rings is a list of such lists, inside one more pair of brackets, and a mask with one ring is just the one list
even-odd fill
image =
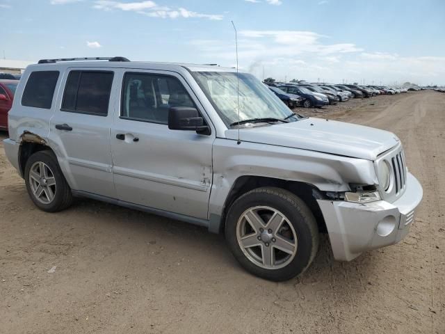
{"label": "dented silver front fender of the SUV, above the front wheel", "polygon": [[350,183],[378,184],[370,160],[216,138],[209,218],[222,216],[230,190],[246,175],[305,182],[321,191],[350,191]]}

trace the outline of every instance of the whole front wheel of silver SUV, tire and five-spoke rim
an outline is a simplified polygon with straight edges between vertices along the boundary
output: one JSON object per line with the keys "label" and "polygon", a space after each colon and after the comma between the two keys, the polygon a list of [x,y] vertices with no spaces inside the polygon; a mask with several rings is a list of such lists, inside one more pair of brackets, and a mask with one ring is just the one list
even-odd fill
{"label": "whole front wheel of silver SUV, tire and five-spoke rim", "polygon": [[235,200],[225,236],[244,269],[274,281],[305,271],[319,242],[316,220],[305,202],[274,187],[254,189]]}

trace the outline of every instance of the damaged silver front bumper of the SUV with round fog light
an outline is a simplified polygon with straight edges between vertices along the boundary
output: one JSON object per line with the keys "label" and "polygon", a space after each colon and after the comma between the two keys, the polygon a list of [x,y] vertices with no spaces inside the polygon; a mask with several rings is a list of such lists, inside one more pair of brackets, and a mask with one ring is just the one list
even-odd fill
{"label": "damaged silver front bumper of the SUV with round fog light", "polygon": [[392,203],[385,200],[367,204],[317,200],[334,258],[350,261],[366,250],[401,241],[410,231],[422,196],[421,184],[408,173],[405,193]]}

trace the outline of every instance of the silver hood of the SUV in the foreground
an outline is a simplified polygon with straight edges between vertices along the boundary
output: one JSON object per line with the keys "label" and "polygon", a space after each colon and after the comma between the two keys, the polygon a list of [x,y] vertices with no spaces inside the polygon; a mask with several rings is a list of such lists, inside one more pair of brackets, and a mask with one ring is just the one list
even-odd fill
{"label": "silver hood of the SUV in the foreground", "polygon": [[[238,139],[238,129],[228,129],[226,138]],[[241,128],[241,141],[264,143],[375,160],[378,154],[394,147],[395,134],[373,127],[364,127],[335,120],[305,118],[264,127]]]}

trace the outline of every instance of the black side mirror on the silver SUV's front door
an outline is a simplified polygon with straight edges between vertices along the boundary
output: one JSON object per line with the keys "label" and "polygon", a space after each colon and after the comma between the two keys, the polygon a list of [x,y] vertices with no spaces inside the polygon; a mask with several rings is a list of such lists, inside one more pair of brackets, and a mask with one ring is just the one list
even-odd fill
{"label": "black side mirror on the silver SUV's front door", "polygon": [[196,131],[198,134],[210,134],[210,129],[204,125],[204,118],[195,108],[175,106],[168,111],[168,128],[170,130]]}

